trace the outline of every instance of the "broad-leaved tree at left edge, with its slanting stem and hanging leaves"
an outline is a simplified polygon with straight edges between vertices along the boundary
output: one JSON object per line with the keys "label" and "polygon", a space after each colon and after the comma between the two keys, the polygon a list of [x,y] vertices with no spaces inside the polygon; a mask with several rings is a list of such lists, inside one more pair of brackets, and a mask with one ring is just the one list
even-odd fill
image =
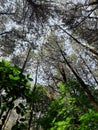
{"label": "broad-leaved tree at left edge, with its slanting stem and hanging leaves", "polygon": [[[16,110],[18,115],[25,115],[26,102],[32,99],[29,81],[29,76],[22,74],[18,66],[4,60],[0,62],[0,129],[5,125],[11,110]],[[20,99],[25,103],[22,104]]]}

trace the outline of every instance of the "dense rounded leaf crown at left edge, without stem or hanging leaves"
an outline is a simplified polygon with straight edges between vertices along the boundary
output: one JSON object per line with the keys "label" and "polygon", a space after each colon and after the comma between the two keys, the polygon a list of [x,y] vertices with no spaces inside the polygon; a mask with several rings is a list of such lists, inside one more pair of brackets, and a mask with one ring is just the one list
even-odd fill
{"label": "dense rounded leaf crown at left edge, without stem or hanging leaves", "polygon": [[26,98],[29,89],[29,78],[21,74],[18,66],[12,66],[8,61],[0,62],[0,91],[3,91],[7,98]]}

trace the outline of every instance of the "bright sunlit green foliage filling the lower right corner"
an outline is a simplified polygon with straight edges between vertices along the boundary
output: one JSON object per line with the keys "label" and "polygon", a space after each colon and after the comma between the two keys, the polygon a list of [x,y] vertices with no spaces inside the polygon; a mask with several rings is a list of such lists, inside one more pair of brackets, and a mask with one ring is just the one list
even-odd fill
{"label": "bright sunlit green foliage filling the lower right corner", "polygon": [[61,94],[39,119],[44,130],[96,130],[98,113],[75,80],[60,84]]}

